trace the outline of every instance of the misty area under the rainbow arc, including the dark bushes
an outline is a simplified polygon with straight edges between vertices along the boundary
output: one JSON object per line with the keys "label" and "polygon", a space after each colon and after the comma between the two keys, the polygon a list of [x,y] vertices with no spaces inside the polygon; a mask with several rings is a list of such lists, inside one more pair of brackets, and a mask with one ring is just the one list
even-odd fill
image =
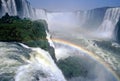
{"label": "misty area under the rainbow arc, including the dark bushes", "polygon": [[[55,45],[58,66],[68,81],[117,81],[107,67],[84,52],[64,44]],[[72,78],[68,77],[69,69]]]}

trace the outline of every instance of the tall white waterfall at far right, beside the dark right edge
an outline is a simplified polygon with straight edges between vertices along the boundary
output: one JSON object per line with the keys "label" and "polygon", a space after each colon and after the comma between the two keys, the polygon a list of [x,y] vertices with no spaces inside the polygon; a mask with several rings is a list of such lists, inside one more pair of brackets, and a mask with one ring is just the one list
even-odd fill
{"label": "tall white waterfall at far right, beside the dark right edge", "polygon": [[98,28],[102,37],[114,38],[114,30],[120,18],[120,8],[110,8],[106,11],[104,20]]}

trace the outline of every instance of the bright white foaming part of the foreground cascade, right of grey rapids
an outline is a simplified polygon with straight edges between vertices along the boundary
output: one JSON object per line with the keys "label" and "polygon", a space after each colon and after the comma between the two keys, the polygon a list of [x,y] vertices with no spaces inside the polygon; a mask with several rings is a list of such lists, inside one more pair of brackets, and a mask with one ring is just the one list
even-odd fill
{"label": "bright white foaming part of the foreground cascade, right of grey rapids", "polygon": [[[20,66],[15,81],[65,81],[50,54],[40,48],[31,48],[34,52],[29,64]],[[35,80],[35,76],[38,80]]]}

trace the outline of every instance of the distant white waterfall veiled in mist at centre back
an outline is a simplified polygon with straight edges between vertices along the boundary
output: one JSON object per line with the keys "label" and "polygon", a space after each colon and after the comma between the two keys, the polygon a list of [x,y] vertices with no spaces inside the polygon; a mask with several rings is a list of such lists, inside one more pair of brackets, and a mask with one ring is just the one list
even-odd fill
{"label": "distant white waterfall veiled in mist at centre back", "polygon": [[51,12],[47,13],[49,29],[71,29],[79,27],[76,13],[74,12]]}

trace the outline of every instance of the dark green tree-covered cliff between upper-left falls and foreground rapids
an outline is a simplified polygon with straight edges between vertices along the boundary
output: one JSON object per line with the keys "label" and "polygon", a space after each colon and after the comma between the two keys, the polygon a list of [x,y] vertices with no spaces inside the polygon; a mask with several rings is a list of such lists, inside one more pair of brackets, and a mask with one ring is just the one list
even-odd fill
{"label": "dark green tree-covered cliff between upper-left falls and foreground rapids", "polygon": [[46,27],[44,20],[31,21],[6,14],[0,19],[0,41],[21,42],[47,50],[49,43],[46,39]]}

